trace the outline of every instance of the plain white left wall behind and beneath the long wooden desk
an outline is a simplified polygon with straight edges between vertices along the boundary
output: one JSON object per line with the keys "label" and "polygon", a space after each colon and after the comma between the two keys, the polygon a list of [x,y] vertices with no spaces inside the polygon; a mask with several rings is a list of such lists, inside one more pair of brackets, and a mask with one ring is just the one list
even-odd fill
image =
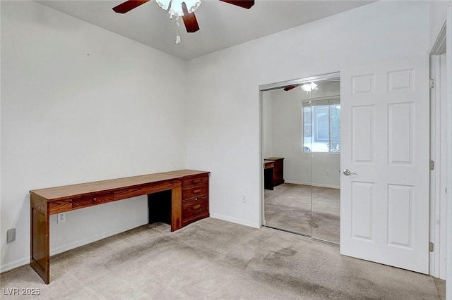
{"label": "plain white left wall behind and beneath the long wooden desk", "polygon": [[[30,261],[30,189],[185,168],[185,91],[184,61],[34,1],[2,1],[1,270]],[[52,254],[147,223],[147,200],[66,218],[51,216]]]}

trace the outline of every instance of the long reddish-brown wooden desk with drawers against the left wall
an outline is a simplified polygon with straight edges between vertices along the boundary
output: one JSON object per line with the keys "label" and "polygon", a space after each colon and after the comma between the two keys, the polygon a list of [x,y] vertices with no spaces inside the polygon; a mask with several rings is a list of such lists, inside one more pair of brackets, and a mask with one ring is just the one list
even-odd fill
{"label": "long reddish-brown wooden desk with drawers against the left wall", "polygon": [[[30,266],[49,284],[49,216],[56,213],[171,190],[171,231],[208,217],[208,174],[205,171],[179,170],[31,190]],[[198,201],[201,199],[196,196],[199,193],[203,196],[201,204],[186,208],[186,211],[196,211],[195,215],[191,213],[187,218],[182,214],[183,186],[186,187],[184,194],[193,196],[188,200]]]}

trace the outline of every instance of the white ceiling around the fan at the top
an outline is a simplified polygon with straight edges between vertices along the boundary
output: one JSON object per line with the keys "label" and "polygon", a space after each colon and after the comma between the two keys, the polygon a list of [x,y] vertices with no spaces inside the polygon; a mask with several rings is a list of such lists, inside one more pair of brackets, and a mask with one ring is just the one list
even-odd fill
{"label": "white ceiling around the fan at the top", "polygon": [[115,13],[112,8],[124,1],[37,2],[186,60],[374,2],[256,0],[246,10],[218,0],[201,0],[195,12],[201,30],[186,33],[181,22],[182,42],[177,45],[177,26],[155,1],[125,14]]}

